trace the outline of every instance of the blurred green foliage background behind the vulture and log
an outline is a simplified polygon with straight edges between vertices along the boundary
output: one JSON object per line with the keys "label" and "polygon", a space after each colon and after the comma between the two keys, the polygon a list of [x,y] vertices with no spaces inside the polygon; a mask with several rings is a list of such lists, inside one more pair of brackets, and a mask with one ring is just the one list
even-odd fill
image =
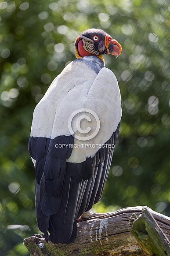
{"label": "blurred green foliage background behind the vulture and log", "polygon": [[[166,0],[0,1],[0,255],[29,255],[38,232],[27,149],[33,109],[91,27],[123,47],[119,141],[97,211],[147,205],[170,216],[170,5]],[[63,85],[64,86],[64,85]],[[107,85],[106,85],[107,86]]]}

